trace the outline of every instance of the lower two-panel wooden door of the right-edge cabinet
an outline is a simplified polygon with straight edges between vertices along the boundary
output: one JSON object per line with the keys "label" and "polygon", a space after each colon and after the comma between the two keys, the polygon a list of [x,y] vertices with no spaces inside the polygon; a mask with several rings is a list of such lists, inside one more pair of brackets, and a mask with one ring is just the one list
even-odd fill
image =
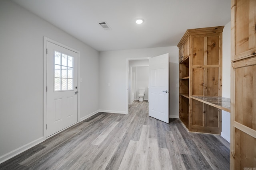
{"label": "lower two-panel wooden door of the right-edge cabinet", "polygon": [[231,70],[230,169],[256,168],[256,57]]}

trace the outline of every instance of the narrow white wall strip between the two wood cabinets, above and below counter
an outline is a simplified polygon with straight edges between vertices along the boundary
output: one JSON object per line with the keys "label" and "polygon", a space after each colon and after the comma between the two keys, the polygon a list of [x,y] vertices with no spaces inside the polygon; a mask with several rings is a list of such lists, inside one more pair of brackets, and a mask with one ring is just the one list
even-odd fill
{"label": "narrow white wall strip between the two wood cabinets, above and below counter", "polygon": [[[222,97],[230,98],[231,71],[231,24],[227,23],[222,33]],[[230,113],[222,111],[221,136],[230,142]]]}

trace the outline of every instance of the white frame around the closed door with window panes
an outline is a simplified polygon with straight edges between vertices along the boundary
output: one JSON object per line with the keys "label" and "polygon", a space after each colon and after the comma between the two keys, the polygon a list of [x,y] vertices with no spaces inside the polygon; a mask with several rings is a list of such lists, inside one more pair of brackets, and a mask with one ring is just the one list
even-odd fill
{"label": "white frame around the closed door with window panes", "polygon": [[[76,49],[68,47],[68,46],[66,46],[66,45],[64,45],[62,43],[59,43],[57,41],[54,41],[53,39],[50,39],[50,38],[44,36],[44,122],[43,122],[43,124],[44,124],[43,125],[43,127],[44,127],[44,140],[49,138],[49,137],[46,137],[46,123],[47,123],[47,113],[46,113],[46,111],[47,111],[47,104],[46,104],[46,102],[47,102],[46,101],[46,95],[47,95],[46,94],[46,86],[47,86],[47,84],[46,84],[47,83],[47,81],[46,81],[47,80],[46,79],[47,78],[46,77],[47,76],[47,54],[46,54],[46,48],[47,48],[47,42],[54,43],[56,45],[59,45],[61,47],[66,48],[66,49],[68,49],[70,51],[74,51],[74,52],[78,53],[78,82],[77,83],[78,83],[78,90],[80,90],[80,51],[77,51]],[[80,95],[79,95],[79,93],[77,95],[78,95],[77,96],[77,100],[78,101],[77,101],[77,122],[76,123],[78,123],[80,121]],[[67,128],[68,127],[66,127],[65,129],[67,129]],[[65,130],[65,129],[62,129],[61,131]],[[55,133],[54,135],[60,133],[61,131]],[[50,137],[52,137],[52,135]]]}

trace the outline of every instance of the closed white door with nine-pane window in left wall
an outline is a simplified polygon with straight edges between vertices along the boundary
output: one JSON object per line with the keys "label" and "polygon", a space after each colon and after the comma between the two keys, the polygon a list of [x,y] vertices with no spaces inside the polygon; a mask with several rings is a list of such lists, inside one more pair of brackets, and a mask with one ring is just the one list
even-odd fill
{"label": "closed white door with nine-pane window in left wall", "polygon": [[78,53],[47,41],[46,136],[77,122]]}

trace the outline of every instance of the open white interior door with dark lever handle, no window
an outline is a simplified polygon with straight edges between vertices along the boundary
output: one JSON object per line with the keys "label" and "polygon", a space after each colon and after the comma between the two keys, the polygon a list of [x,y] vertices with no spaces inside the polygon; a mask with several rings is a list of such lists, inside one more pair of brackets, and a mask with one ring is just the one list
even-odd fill
{"label": "open white interior door with dark lever handle, no window", "polygon": [[149,116],[169,123],[168,53],[149,59],[149,99]]}

